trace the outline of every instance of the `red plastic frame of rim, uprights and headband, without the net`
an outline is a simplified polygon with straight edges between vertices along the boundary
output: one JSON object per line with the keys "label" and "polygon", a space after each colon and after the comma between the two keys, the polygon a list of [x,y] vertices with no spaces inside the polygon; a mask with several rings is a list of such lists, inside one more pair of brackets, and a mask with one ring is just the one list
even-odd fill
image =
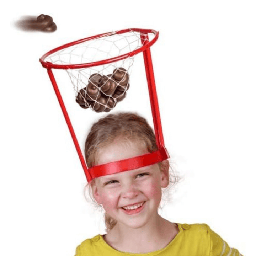
{"label": "red plastic frame of rim, uprights and headband, without the net", "polygon": [[[129,31],[136,31],[136,32],[141,33],[140,37],[141,37],[142,47],[140,47],[139,49],[134,50],[130,53],[120,55],[118,57],[114,57],[114,58],[107,59],[107,60],[101,60],[101,61],[93,62],[93,63],[70,64],[70,65],[57,65],[57,64],[53,64],[53,63],[44,61],[46,57],[48,57],[50,54],[52,54],[54,52],[57,52],[58,50],[64,49],[69,46],[73,46],[75,44],[79,44],[81,42],[92,40],[92,39],[95,39],[98,37],[103,37],[103,36],[108,36],[108,35],[110,36],[113,34],[113,32],[110,32],[110,33],[100,34],[97,36],[87,37],[87,38],[84,38],[84,39],[81,39],[78,41],[74,41],[74,42],[65,44],[63,46],[60,46],[58,48],[55,48],[55,49],[49,51],[48,53],[44,54],[42,56],[42,58],[40,59],[42,66],[44,68],[47,68],[49,78],[52,82],[55,94],[60,103],[60,107],[64,114],[66,123],[68,125],[71,137],[75,144],[76,151],[78,153],[80,162],[82,164],[82,167],[84,169],[85,176],[86,176],[88,182],[90,182],[92,179],[94,179],[96,177],[113,174],[113,173],[121,172],[121,171],[137,169],[137,168],[140,168],[143,166],[156,164],[157,162],[161,162],[161,161],[169,158],[169,154],[164,146],[164,138],[163,138],[163,134],[162,134],[162,125],[161,125],[158,99],[157,99],[156,87],[155,87],[153,64],[152,64],[151,53],[150,53],[150,46],[153,43],[155,43],[155,41],[158,39],[159,32],[157,32],[155,30],[133,28],[133,29],[126,29],[126,30],[119,30],[114,33],[120,34],[120,33],[129,32]],[[149,41],[148,33],[153,33],[155,35],[155,37],[151,41]],[[110,163],[103,164],[103,165],[93,166],[88,169],[85,159],[82,155],[82,151],[80,149],[78,140],[76,138],[74,129],[72,127],[70,118],[68,116],[68,112],[66,111],[66,107],[64,105],[62,96],[60,95],[57,82],[55,81],[54,75],[52,73],[52,68],[53,69],[75,69],[75,68],[86,68],[86,67],[88,68],[88,67],[92,67],[92,66],[102,65],[102,64],[106,64],[106,63],[115,62],[117,60],[125,59],[125,58],[131,57],[135,54],[138,54],[140,52],[143,52],[143,57],[144,57],[146,78],[147,78],[147,82],[148,82],[151,111],[152,111],[152,116],[153,116],[154,130],[155,130],[156,143],[158,145],[158,150],[153,153],[136,156],[136,157],[129,158],[129,159],[123,159],[123,160],[119,160],[116,162],[110,162]]]}

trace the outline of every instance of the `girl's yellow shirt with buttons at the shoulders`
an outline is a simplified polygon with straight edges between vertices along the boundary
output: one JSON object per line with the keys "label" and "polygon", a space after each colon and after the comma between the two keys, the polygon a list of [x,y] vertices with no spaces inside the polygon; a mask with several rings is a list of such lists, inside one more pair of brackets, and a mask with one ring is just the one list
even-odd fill
{"label": "girl's yellow shirt with buttons at the shoulders", "polygon": [[163,249],[145,254],[134,254],[118,251],[108,245],[102,235],[87,239],[76,248],[75,256],[105,255],[105,256],[196,256],[196,255],[236,255],[239,251],[230,248],[228,244],[206,224],[178,224],[179,232],[175,238]]}

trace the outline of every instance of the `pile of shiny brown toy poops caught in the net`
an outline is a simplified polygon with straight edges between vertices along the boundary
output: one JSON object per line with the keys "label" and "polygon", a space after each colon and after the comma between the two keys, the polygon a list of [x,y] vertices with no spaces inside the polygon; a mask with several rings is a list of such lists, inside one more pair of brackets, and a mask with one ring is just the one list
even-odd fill
{"label": "pile of shiny brown toy poops caught in the net", "polygon": [[124,68],[116,68],[113,74],[92,74],[88,85],[76,95],[76,102],[82,108],[91,107],[95,112],[109,112],[117,102],[124,99],[129,89],[129,75]]}

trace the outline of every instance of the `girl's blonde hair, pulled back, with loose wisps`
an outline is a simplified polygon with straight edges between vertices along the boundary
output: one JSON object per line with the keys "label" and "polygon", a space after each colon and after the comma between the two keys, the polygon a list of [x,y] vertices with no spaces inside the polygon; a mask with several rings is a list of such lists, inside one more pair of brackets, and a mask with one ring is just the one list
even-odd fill
{"label": "girl's blonde hair, pulled back, with loose wisps", "polygon": [[[155,134],[145,118],[135,113],[122,112],[118,114],[109,114],[98,120],[91,127],[85,141],[85,159],[90,168],[97,165],[97,151],[102,146],[111,144],[115,139],[136,140],[143,142],[148,152],[158,150]],[[178,178],[173,176],[172,183],[176,183]],[[91,191],[94,180],[90,184],[90,197],[93,198]],[[94,200],[95,201],[95,200]],[[106,230],[111,230],[117,223],[110,215],[105,213],[104,221]]]}

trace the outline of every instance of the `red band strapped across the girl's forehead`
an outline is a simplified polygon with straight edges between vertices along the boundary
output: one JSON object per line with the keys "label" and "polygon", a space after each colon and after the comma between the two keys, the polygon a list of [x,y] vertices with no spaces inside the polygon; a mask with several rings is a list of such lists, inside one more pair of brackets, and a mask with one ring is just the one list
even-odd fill
{"label": "red band strapped across the girl's forehead", "polygon": [[[144,166],[156,164],[158,162],[164,161],[169,158],[169,154],[166,148],[160,148],[159,150],[140,156],[135,156],[133,158],[123,159],[116,162],[109,162],[102,165],[96,165],[88,169],[91,180],[94,178],[114,174],[122,171],[129,171],[138,169]],[[90,182],[89,180],[88,182]]]}

